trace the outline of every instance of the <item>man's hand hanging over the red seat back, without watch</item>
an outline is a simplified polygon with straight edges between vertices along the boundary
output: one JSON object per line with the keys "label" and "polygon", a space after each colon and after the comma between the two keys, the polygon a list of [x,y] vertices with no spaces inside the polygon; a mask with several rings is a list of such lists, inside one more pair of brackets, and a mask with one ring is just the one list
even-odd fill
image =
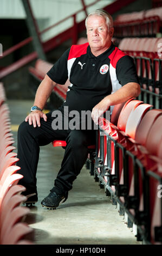
{"label": "man's hand hanging over the red seat back, without watch", "polygon": [[106,99],[101,100],[97,105],[92,109],[91,117],[96,125],[99,124],[99,117],[105,113],[109,108],[108,101]]}

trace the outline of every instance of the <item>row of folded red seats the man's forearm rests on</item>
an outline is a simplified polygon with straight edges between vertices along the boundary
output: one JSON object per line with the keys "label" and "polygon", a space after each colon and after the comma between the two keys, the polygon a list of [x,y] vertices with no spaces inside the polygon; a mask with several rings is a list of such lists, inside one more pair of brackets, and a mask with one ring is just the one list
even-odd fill
{"label": "row of folded red seats the man's forearm rests on", "polygon": [[[162,243],[162,110],[130,99],[100,119],[94,177],[137,227],[137,240]],[[130,227],[130,224],[129,224]]]}

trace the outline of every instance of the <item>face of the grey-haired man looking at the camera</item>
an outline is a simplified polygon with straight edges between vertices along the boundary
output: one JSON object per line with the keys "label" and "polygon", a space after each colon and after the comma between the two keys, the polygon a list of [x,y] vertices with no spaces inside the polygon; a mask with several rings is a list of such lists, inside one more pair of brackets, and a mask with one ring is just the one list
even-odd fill
{"label": "face of the grey-haired man looking at the camera", "polygon": [[109,28],[108,31],[105,18],[96,15],[89,16],[87,20],[87,39],[91,49],[106,50],[111,46],[113,32],[114,28]]}

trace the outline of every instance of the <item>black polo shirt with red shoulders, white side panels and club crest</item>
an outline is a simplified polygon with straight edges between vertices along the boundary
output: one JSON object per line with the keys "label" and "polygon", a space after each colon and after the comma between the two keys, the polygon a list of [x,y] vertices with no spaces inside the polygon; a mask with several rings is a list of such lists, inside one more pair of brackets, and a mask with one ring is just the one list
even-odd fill
{"label": "black polo shirt with red shoulders, white side panels and club crest", "polygon": [[47,75],[59,84],[69,78],[71,84],[62,106],[79,112],[92,111],[103,97],[129,82],[139,83],[133,59],[113,44],[98,57],[92,54],[88,42],[72,45]]}

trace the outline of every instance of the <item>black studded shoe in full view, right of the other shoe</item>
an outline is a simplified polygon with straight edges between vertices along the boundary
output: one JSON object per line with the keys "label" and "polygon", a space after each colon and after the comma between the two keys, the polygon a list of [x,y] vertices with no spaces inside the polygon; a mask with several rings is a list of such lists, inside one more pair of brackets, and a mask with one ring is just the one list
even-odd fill
{"label": "black studded shoe in full view, right of the other shoe", "polygon": [[49,195],[42,200],[41,205],[47,207],[47,209],[54,210],[67,200],[68,192],[62,194],[53,190],[50,191]]}

